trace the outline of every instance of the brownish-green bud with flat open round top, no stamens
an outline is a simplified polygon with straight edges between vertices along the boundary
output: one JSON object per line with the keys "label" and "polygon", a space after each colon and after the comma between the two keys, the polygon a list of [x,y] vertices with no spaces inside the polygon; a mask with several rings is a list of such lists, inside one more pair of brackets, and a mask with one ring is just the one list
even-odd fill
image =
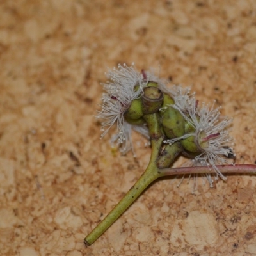
{"label": "brownish-green bud with flat open round top, no stamens", "polygon": [[163,92],[154,86],[145,87],[142,99],[142,111],[144,114],[156,113],[163,104]]}

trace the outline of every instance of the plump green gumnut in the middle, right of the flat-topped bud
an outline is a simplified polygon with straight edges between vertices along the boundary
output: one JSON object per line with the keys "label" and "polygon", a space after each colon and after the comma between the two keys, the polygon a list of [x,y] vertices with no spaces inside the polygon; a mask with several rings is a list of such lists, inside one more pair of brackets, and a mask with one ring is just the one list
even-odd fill
{"label": "plump green gumnut in the middle, right of the flat-topped bud", "polygon": [[169,139],[183,136],[185,133],[184,117],[177,109],[168,106],[163,112],[161,111],[162,125],[164,133]]}

